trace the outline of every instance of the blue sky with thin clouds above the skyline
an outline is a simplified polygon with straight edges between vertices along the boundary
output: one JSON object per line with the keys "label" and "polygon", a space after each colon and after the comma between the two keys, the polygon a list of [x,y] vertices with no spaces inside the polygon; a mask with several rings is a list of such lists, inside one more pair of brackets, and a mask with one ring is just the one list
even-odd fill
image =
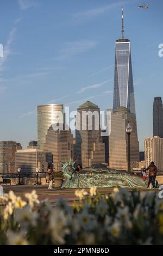
{"label": "blue sky with thin clouds above the skyline", "polygon": [[86,100],[112,107],[115,40],[131,41],[140,149],[152,136],[154,96],[163,96],[161,0],[1,0],[0,140],[37,139],[36,106]]}

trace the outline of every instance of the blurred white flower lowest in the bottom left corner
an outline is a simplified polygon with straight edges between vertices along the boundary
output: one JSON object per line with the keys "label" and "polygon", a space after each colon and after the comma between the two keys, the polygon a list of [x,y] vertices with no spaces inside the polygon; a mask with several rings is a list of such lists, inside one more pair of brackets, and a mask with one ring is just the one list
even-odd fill
{"label": "blurred white flower lowest in the bottom left corner", "polygon": [[28,245],[28,241],[24,239],[24,234],[8,232],[8,245]]}

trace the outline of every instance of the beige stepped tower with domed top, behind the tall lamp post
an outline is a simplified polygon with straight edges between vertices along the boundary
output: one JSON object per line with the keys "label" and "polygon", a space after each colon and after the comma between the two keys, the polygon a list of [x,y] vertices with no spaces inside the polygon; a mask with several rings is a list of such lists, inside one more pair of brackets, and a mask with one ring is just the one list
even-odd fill
{"label": "beige stepped tower with domed top, behind the tall lamp post", "polygon": [[139,141],[135,114],[126,107],[117,108],[111,114],[111,134],[109,136],[109,168],[127,170],[128,168],[128,135],[126,126],[128,121],[132,127],[130,134],[131,169],[139,166]]}

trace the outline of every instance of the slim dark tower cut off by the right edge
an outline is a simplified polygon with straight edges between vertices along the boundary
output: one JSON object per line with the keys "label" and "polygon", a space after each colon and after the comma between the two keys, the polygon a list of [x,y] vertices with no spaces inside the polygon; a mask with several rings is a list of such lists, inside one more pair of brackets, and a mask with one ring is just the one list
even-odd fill
{"label": "slim dark tower cut off by the right edge", "polygon": [[163,138],[163,107],[161,97],[155,97],[153,102],[153,136]]}

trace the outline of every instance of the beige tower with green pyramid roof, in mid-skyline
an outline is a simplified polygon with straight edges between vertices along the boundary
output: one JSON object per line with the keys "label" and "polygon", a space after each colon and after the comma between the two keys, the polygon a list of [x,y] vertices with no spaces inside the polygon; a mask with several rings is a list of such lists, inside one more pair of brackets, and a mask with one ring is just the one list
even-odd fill
{"label": "beige tower with green pyramid roof, in mid-skyline", "polygon": [[78,156],[78,163],[82,163],[83,167],[91,166],[93,163],[105,163],[105,144],[101,136],[99,107],[90,101],[79,106],[76,126],[74,154]]}

